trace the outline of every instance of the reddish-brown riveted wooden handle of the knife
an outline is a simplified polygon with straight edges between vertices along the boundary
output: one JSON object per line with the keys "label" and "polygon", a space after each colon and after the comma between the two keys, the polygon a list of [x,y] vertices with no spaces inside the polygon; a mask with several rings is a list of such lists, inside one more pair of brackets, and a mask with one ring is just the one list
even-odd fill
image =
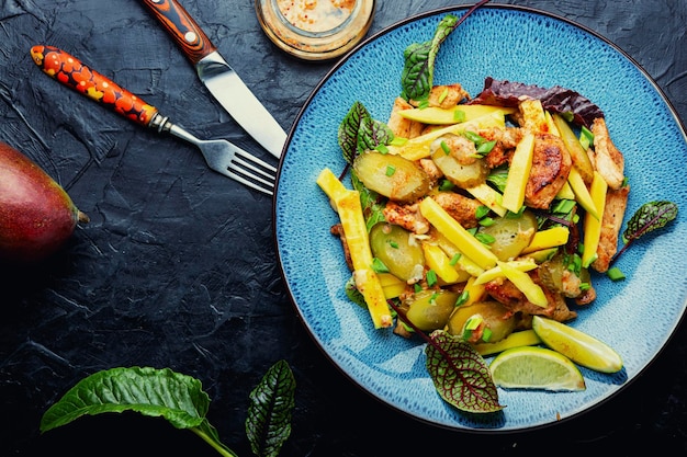
{"label": "reddish-brown riveted wooden handle of the knife", "polygon": [[144,0],[193,65],[217,48],[177,0]]}

